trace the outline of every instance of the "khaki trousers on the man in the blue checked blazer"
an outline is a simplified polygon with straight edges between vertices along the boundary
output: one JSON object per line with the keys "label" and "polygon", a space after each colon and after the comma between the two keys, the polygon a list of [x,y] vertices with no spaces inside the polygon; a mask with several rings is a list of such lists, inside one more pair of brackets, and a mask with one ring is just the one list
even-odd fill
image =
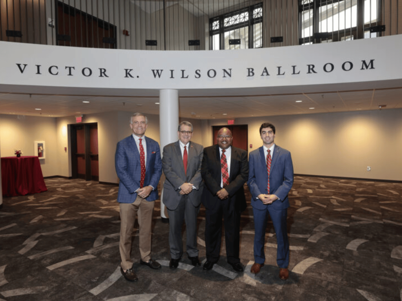
{"label": "khaki trousers on the man in the blue checked blazer", "polygon": [[131,238],[135,216],[139,225],[139,253],[143,261],[151,259],[151,225],[155,201],[149,202],[137,196],[134,203],[119,203],[120,205],[120,257],[123,270],[132,268]]}

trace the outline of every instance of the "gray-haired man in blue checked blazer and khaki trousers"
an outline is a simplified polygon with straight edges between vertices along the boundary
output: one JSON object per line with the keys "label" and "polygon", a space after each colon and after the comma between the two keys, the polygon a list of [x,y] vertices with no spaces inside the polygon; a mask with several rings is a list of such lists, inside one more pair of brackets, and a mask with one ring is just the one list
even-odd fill
{"label": "gray-haired man in blue checked blazer and khaki trousers", "polygon": [[140,263],[150,268],[161,266],[151,258],[151,225],[162,161],[158,142],[145,136],[148,118],[134,113],[130,118],[133,134],[117,143],[115,167],[120,179],[117,201],[120,206],[121,273],[128,281],[137,281],[131,261],[131,237],[135,216],[139,224]]}

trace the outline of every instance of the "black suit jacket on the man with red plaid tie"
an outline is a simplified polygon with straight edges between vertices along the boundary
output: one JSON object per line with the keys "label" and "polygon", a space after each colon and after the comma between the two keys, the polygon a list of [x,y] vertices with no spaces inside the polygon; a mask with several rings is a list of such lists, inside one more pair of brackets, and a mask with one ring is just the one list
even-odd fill
{"label": "black suit jacket on the man with red plaid tie", "polygon": [[[202,195],[202,203],[206,209],[216,209],[221,202],[216,193],[221,187],[221,159],[219,146],[217,144],[204,148],[204,155],[201,164],[201,176],[205,187]],[[229,193],[230,201],[236,209],[246,209],[246,198],[243,185],[248,179],[247,152],[232,146],[230,157],[229,184],[225,187]]]}

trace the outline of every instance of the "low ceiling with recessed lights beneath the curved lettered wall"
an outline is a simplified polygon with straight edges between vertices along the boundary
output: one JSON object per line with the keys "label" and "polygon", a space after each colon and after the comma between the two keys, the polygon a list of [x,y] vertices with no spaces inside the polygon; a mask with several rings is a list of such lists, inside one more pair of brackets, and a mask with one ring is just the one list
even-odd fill
{"label": "low ceiling with recessed lights beneath the curved lettered wall", "polygon": [[[159,114],[159,105],[155,104],[159,101],[158,92],[130,97],[78,95],[82,92],[74,91],[70,93],[19,94],[0,91],[0,114],[43,117],[78,116],[111,111]],[[217,92],[215,96],[197,93],[185,95],[179,98],[180,117],[193,119],[379,110],[379,106],[382,106],[381,110],[402,108],[401,87],[275,95],[239,95],[238,91],[226,90],[224,93]],[[41,110],[35,110],[36,108]]]}

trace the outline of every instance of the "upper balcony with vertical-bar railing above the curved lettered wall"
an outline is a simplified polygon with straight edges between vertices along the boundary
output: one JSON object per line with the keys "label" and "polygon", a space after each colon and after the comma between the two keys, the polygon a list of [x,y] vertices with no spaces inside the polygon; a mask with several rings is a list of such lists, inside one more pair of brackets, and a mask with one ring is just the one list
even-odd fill
{"label": "upper balcony with vertical-bar railing above the curved lettered wall", "polygon": [[0,0],[0,41],[139,50],[281,47],[397,35],[399,11],[402,0]]}

